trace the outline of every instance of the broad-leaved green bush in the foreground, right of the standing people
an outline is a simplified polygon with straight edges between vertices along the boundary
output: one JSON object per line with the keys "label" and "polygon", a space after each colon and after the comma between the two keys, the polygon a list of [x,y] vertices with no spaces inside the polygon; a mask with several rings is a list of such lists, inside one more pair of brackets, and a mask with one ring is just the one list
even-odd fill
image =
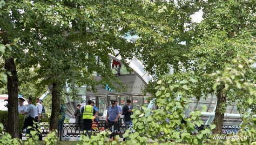
{"label": "broad-leaved green bush in the foreground, right of the standing people", "polygon": [[[186,74],[184,75],[186,76]],[[190,112],[190,117],[185,116],[189,98],[193,95],[191,91],[198,82],[192,75],[188,75],[188,78],[178,79],[178,77],[168,76],[156,83],[155,102],[158,109],[153,110],[152,115],[148,115],[150,110],[145,107],[143,107],[143,111],[133,110],[135,136],[136,138],[141,136],[134,142],[144,144],[148,142],[146,138],[153,140],[157,138],[158,142],[169,144],[172,143],[171,140],[174,140],[175,143],[182,141],[189,144],[203,143],[211,131],[209,129],[201,132],[195,131],[195,125],[203,125],[202,120],[199,119],[201,112]],[[179,97],[181,98],[178,99]],[[181,123],[182,119],[185,120],[185,124]],[[211,129],[213,128],[215,127],[212,126]]]}

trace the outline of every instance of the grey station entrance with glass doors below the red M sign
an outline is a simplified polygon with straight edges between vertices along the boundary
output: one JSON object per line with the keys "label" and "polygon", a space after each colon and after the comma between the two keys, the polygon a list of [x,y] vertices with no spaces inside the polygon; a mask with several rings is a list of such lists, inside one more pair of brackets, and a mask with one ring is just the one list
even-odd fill
{"label": "grey station entrance with glass doors below the red M sign", "polygon": [[130,99],[133,109],[141,109],[142,105],[148,106],[150,94],[143,95],[142,90],[145,83],[137,74],[119,76],[119,79],[127,88],[125,92],[117,92],[115,89],[113,92],[110,92],[101,86],[97,87],[96,93],[87,92],[86,100],[94,101],[94,105],[99,108],[99,116],[103,116],[104,110],[108,109],[108,106],[111,105],[111,100],[117,100],[122,107],[126,104],[126,100]]}

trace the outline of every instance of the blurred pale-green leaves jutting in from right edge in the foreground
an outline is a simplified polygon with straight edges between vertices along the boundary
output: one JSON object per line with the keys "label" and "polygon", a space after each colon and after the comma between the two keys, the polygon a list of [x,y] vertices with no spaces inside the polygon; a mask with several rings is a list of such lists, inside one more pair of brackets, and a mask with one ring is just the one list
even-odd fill
{"label": "blurred pale-green leaves jutting in from right edge in the foreground", "polygon": [[[256,52],[248,53],[247,56],[239,55],[232,60],[232,67],[226,67],[223,71],[216,71],[207,75],[216,79],[213,89],[224,84],[224,92],[232,90],[233,97],[240,99],[238,105],[241,112],[251,109],[255,112],[256,107]],[[243,98],[241,98],[243,97]]]}

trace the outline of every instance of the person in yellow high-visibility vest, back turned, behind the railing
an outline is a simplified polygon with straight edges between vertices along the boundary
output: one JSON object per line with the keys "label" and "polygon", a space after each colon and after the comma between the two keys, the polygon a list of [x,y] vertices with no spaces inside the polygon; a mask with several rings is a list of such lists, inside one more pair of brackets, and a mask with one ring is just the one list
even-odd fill
{"label": "person in yellow high-visibility vest, back turned, behind the railing", "polygon": [[92,101],[88,100],[87,105],[81,108],[81,113],[83,114],[84,130],[87,131],[91,131],[93,125],[93,113],[95,110],[91,104]]}

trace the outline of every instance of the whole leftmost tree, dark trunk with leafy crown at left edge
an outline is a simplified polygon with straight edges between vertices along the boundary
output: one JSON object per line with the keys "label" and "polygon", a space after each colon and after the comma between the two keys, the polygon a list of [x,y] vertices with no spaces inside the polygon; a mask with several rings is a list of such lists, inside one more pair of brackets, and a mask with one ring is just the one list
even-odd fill
{"label": "whole leftmost tree, dark trunk with leafy crown at left edge", "polygon": [[[0,49],[7,74],[8,90],[8,124],[7,132],[13,138],[18,138],[18,76],[17,64],[24,61],[26,51],[34,43],[33,30],[26,25],[27,1],[0,1]],[[33,13],[34,14],[34,13]],[[33,21],[34,22],[34,21]],[[33,45],[34,46],[34,45]],[[7,48],[7,49],[6,49]]]}

